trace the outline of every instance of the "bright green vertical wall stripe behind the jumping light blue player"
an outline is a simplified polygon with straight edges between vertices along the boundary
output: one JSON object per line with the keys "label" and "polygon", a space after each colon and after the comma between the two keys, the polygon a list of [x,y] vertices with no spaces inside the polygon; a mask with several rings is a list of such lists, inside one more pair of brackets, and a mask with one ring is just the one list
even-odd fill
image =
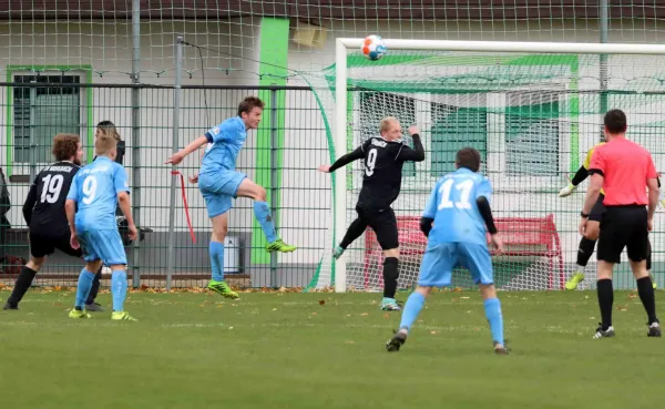
{"label": "bright green vertical wall stripe behind the jumping light blue player", "polygon": [[[260,21],[260,57],[259,57],[259,85],[286,85],[286,75],[288,67],[288,19],[263,18]],[[265,187],[268,195],[268,203],[279,208],[279,196],[277,203],[270,203],[270,190],[282,186],[282,157],[284,146],[284,114],[286,93],[278,91],[276,94],[275,106],[273,106],[272,91],[259,91],[258,96],[265,102],[263,119],[260,121],[257,141],[256,141],[256,176],[255,182]],[[273,112],[275,110],[275,112]],[[273,114],[276,115],[276,146],[272,145],[270,123]],[[270,151],[277,150],[277,163],[272,163]],[[272,185],[270,176],[273,170],[277,170],[277,186]],[[277,234],[279,232],[279,214],[273,214]],[[252,225],[252,264],[269,264],[270,255],[265,250],[266,238],[260,225],[254,219]],[[285,237],[286,243],[293,241],[293,237]]]}

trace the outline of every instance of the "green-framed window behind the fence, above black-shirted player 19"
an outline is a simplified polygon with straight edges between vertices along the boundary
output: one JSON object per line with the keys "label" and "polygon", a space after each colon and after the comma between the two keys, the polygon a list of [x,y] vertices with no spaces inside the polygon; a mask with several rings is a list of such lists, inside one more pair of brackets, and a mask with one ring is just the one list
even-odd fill
{"label": "green-framed window behind the fence, above black-shirted player 19", "polygon": [[[51,146],[58,133],[79,134],[81,130],[81,89],[79,75],[14,75],[17,83],[49,83],[55,86],[13,88],[13,161],[34,163],[52,161]],[[62,86],[58,86],[62,85]]]}

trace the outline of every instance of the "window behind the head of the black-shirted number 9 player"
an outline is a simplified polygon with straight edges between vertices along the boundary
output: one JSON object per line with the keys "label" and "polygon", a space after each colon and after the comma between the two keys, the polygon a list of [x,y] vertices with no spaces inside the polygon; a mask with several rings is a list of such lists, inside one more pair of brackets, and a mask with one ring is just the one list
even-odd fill
{"label": "window behind the head of the black-shirted number 9 player", "polygon": [[[416,123],[416,100],[400,94],[361,91],[360,92],[360,143],[379,135],[379,124],[386,116],[395,116],[402,126],[403,139],[413,147],[413,141],[407,131]],[[416,163],[406,162],[402,175],[416,176]]]}

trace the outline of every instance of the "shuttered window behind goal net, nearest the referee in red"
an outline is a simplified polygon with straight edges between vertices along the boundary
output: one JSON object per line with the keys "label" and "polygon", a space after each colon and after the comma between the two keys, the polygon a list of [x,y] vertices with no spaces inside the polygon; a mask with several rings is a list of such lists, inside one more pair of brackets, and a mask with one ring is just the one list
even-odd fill
{"label": "shuttered window behind goal net, nearest the referee in red", "polygon": [[508,95],[505,168],[511,176],[559,173],[559,93],[528,91]]}

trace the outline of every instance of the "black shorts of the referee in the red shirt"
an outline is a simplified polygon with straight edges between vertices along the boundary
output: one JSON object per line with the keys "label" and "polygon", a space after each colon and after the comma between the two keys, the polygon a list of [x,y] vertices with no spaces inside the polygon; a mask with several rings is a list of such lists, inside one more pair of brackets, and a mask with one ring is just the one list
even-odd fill
{"label": "black shorts of the referee in the red shirt", "polygon": [[618,264],[627,247],[628,258],[642,262],[648,255],[647,213],[644,206],[610,206],[601,222],[597,259]]}

